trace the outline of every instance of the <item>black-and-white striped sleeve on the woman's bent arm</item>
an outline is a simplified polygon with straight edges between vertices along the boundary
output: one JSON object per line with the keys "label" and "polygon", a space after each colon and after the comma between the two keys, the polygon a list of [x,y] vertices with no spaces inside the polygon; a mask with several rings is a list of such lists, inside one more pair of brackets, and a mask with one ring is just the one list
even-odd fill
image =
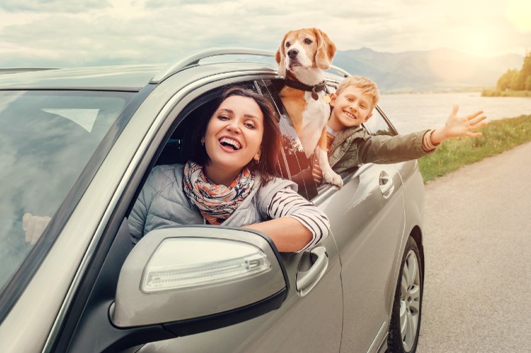
{"label": "black-and-white striped sleeve on the woman's bent arm", "polygon": [[273,196],[267,212],[271,219],[284,216],[297,219],[312,232],[312,241],[307,243],[304,248],[298,250],[297,253],[313,248],[317,243],[329,236],[330,222],[326,214],[290,187],[279,190]]}

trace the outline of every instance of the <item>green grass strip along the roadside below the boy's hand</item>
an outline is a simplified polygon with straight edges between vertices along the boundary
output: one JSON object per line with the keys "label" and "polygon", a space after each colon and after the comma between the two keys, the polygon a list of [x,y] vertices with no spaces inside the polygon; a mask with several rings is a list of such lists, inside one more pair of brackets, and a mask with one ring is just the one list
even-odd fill
{"label": "green grass strip along the roadside below the boy's hand", "polygon": [[481,133],[481,137],[444,141],[435,153],[420,158],[418,165],[424,183],[531,141],[531,115],[493,120]]}

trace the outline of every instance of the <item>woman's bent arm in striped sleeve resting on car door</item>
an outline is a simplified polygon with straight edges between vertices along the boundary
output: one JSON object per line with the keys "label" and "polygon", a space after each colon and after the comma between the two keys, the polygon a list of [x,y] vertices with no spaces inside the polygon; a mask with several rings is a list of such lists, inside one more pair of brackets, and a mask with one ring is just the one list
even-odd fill
{"label": "woman's bent arm in striped sleeve resting on car door", "polygon": [[282,253],[304,251],[329,236],[326,215],[290,187],[278,191],[265,211],[269,221],[244,228],[263,231]]}

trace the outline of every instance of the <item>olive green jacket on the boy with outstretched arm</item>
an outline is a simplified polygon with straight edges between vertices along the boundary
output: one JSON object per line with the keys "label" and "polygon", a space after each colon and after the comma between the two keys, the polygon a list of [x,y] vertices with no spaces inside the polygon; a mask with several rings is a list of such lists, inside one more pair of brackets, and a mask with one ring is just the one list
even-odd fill
{"label": "olive green jacket on the boy with outstretched arm", "polygon": [[396,163],[426,156],[435,151],[426,152],[422,148],[426,132],[372,136],[365,127],[350,127],[333,139],[328,152],[330,166],[341,173],[362,163]]}

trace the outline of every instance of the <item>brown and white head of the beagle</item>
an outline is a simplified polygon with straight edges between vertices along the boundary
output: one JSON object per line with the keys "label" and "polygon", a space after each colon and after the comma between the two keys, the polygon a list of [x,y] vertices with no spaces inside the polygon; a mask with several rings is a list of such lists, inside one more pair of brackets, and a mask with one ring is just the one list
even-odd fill
{"label": "brown and white head of the beagle", "polygon": [[297,72],[310,68],[330,69],[335,54],[336,45],[322,30],[317,28],[290,30],[284,35],[275,54],[278,74],[285,76],[286,71],[290,71],[297,77]]}

